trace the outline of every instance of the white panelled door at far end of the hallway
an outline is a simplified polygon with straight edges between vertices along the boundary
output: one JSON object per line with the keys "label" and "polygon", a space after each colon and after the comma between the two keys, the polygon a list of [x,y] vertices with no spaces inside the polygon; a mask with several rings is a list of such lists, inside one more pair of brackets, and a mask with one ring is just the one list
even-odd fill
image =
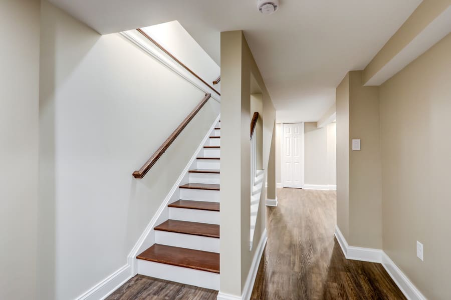
{"label": "white panelled door at far end of the hallway", "polygon": [[283,124],[282,185],[304,187],[304,123]]}

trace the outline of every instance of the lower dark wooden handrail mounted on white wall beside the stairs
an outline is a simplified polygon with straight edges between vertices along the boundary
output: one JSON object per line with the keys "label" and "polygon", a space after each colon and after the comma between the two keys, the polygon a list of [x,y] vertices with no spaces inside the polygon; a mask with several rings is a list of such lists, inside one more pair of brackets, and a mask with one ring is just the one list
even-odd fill
{"label": "lower dark wooden handrail mounted on white wall beside the stairs", "polygon": [[194,116],[199,112],[202,106],[210,99],[211,94],[205,94],[202,101],[194,108],[194,110],[181,122],[180,125],[172,132],[172,134],[164,141],[164,143],[158,148],[155,153],[149,158],[148,161],[138,170],[133,172],[133,177],[143,178],[144,175],[150,170],[150,168],[156,163],[156,161],[163,155],[163,153],[169,148],[175,138],[182,132],[182,130],[188,125],[188,123],[194,118]]}

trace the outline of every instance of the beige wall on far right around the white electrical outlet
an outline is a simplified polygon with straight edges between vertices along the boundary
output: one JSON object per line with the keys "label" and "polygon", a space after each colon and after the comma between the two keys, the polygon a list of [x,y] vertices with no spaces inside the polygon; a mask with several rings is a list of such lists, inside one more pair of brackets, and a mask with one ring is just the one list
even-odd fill
{"label": "beige wall on far right around the white electrical outlet", "polygon": [[383,250],[428,299],[451,298],[450,83],[448,35],[380,87]]}

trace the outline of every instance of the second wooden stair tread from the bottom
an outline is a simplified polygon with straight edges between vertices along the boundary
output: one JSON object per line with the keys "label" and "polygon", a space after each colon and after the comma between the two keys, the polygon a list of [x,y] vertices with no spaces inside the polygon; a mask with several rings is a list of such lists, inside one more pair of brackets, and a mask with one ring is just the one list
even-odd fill
{"label": "second wooden stair tread from the bottom", "polygon": [[179,220],[167,220],[155,230],[219,238],[219,225]]}

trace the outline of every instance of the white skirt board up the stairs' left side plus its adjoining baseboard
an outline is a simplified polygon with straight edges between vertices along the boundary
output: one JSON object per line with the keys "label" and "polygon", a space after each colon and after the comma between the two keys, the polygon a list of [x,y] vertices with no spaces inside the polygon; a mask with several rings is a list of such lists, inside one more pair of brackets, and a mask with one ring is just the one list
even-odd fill
{"label": "white skirt board up the stairs' left side plus its adjoining baseboard", "polygon": [[108,297],[113,291],[118,289],[122,284],[124,284],[128,279],[136,275],[138,272],[137,268],[137,259],[136,256],[138,253],[144,251],[148,247],[150,247],[152,244],[155,243],[155,235],[152,234],[153,227],[155,227],[155,223],[157,221],[163,222],[164,220],[161,220],[160,218],[162,216],[168,215],[168,207],[167,204],[172,199],[174,200],[174,196],[176,196],[178,200],[178,194],[175,194],[176,191],[178,191],[178,187],[180,186],[180,183],[182,180],[188,180],[188,171],[192,167],[192,165],[196,162],[197,154],[203,149],[203,146],[205,145],[208,137],[210,136],[210,132],[214,130],[214,127],[216,126],[216,123],[219,121],[221,115],[219,114],[217,118],[214,120],[213,124],[211,125],[210,129],[208,129],[207,133],[205,134],[205,137],[202,139],[199,147],[197,147],[196,151],[194,152],[194,155],[189,160],[186,167],[183,169],[182,173],[178,177],[177,181],[174,183],[172,188],[170,189],[169,193],[166,195],[166,198],[161,203],[161,205],[158,207],[158,210],[156,211],[155,215],[150,220],[149,224],[147,225],[146,229],[144,229],[144,232],[139,237],[136,244],[133,246],[132,250],[127,256],[127,264],[119,268],[117,271],[94,285],[92,288],[90,288],[88,291],[84,292],[82,295],[76,298],[76,300],[103,300],[106,297]]}

